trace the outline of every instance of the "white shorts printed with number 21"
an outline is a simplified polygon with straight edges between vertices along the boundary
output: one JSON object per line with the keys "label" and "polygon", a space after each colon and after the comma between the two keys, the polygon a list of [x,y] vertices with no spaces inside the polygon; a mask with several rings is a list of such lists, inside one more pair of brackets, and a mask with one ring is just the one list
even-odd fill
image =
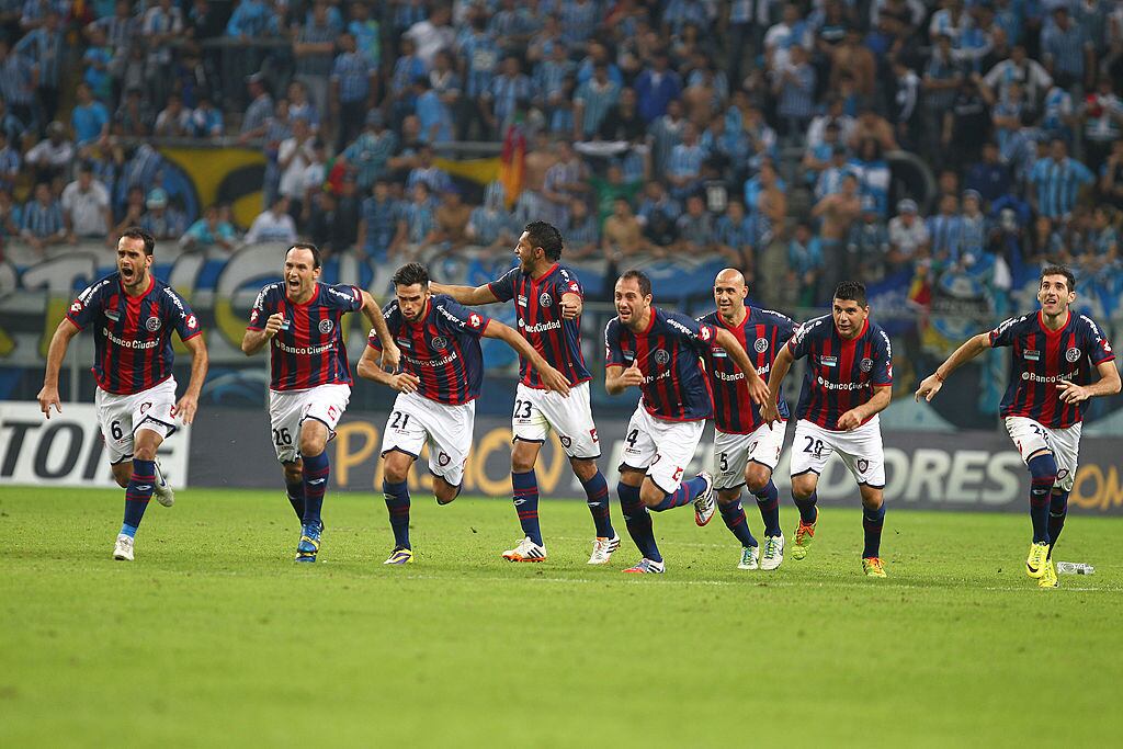
{"label": "white shorts printed with number 21", "polygon": [[382,455],[400,450],[418,458],[428,445],[429,473],[459,486],[475,421],[475,401],[448,405],[417,393],[399,393],[382,435]]}

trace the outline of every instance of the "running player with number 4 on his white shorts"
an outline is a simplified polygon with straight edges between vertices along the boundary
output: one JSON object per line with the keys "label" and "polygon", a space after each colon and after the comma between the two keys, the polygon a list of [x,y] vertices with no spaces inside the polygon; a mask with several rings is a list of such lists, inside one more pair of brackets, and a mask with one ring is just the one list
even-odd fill
{"label": "running player with number 4 on his white shorts", "polygon": [[745,373],[752,400],[763,403],[767,389],[729,330],[654,307],[651,281],[642,272],[620,276],[613,298],[617,317],[604,328],[604,389],[619,395],[634,385],[642,393],[628,422],[617,491],[628,533],[643,557],[624,572],[663,574],[649,511],[693,502],[699,526],[710,522],[714,512],[713,476],[703,471],[683,481],[705,420],[713,414],[699,357],[716,342]]}

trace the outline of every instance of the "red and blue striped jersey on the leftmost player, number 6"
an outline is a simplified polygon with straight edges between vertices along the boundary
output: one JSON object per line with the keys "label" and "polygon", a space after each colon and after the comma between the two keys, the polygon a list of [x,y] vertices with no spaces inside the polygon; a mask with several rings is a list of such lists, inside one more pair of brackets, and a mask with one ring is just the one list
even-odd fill
{"label": "red and blue striped jersey on the leftmost player, number 6", "polygon": [[97,326],[92,372],[98,387],[115,395],[134,395],[172,376],[173,329],[181,340],[202,332],[188,303],[155,276],[146,292],[130,296],[120,274],[108,275],[77,295],[66,319],[79,329]]}

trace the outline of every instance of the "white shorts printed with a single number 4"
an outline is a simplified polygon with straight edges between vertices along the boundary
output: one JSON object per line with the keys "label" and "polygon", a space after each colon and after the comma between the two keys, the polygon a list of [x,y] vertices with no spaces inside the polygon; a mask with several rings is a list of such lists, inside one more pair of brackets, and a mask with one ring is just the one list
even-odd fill
{"label": "white shorts printed with a single number 4", "polygon": [[657,419],[640,401],[628,422],[621,468],[647,471],[655,485],[673,494],[683,483],[683,472],[702,441],[705,421],[666,421]]}

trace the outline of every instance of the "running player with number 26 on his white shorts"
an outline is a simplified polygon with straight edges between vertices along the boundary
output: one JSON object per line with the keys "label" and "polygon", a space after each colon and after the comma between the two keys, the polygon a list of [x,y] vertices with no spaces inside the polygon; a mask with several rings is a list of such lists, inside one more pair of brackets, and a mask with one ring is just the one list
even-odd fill
{"label": "running player with number 26 on his white shorts", "polygon": [[296,561],[316,561],[328,488],[328,440],[350,399],[351,375],[340,321],[362,310],[383,340],[382,363],[396,368],[399,351],[374,298],[357,286],[320,283],[320,250],[295,244],[284,256],[284,281],[263,287],[249,312],[241,350],[270,346],[270,426],[289,503],[300,518]]}

